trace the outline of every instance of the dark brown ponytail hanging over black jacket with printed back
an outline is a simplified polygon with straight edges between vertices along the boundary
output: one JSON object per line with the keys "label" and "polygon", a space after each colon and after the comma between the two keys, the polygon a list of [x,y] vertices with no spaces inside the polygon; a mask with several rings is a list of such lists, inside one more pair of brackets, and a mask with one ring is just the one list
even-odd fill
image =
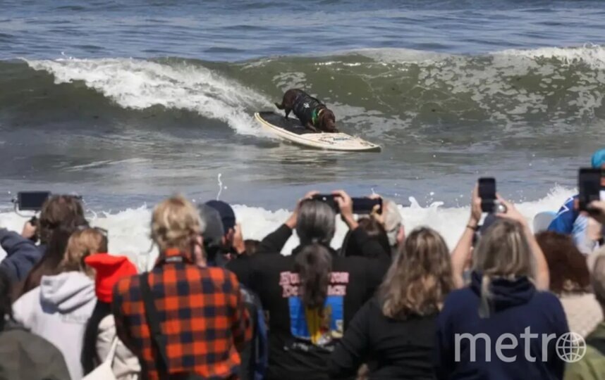
{"label": "dark brown ponytail hanging over black jacket with printed back", "polygon": [[328,297],[332,257],[328,248],[313,243],[302,248],[295,258],[294,270],[300,279],[299,295],[307,309],[323,311]]}

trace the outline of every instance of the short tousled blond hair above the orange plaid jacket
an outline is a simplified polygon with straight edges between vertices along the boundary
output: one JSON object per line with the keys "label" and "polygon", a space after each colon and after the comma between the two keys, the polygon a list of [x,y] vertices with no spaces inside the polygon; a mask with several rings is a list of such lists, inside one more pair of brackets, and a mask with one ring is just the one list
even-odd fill
{"label": "short tousled blond hair above the orange plaid jacket", "polygon": [[153,211],[151,236],[160,252],[176,248],[190,253],[193,239],[202,234],[200,214],[183,196],[168,198]]}

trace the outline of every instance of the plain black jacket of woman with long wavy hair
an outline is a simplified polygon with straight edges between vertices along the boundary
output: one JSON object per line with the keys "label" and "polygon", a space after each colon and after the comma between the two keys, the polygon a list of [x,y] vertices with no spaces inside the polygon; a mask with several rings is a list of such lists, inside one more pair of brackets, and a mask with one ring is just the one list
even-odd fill
{"label": "plain black jacket of woman with long wavy hair", "polygon": [[434,379],[437,315],[397,320],[385,317],[376,297],[350,322],[331,355],[332,379],[355,377],[369,363],[368,379]]}

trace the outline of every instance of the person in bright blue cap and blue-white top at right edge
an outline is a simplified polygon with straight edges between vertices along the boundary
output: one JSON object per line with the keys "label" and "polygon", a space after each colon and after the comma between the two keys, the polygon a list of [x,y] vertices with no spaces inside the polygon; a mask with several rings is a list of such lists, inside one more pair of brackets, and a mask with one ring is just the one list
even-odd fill
{"label": "person in bright blue cap and blue-white top at right edge", "polygon": [[[592,167],[598,169],[605,168],[605,148],[594,152],[591,160]],[[568,198],[558,210],[554,220],[549,224],[549,231],[558,232],[559,234],[573,235],[573,241],[582,253],[590,253],[593,247],[587,247],[586,229],[588,218],[585,215],[580,215],[576,202],[578,195]]]}

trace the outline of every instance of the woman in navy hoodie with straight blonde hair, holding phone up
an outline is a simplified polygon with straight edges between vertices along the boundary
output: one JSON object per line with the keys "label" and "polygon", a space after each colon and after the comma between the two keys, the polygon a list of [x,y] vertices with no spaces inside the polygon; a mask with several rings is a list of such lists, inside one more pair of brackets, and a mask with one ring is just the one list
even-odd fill
{"label": "woman in navy hoodie with straight blonde hair, holding phone up", "polygon": [[[544,258],[539,257],[539,246],[530,241],[525,217],[511,203],[501,202],[506,213],[499,214],[501,220],[487,229],[473,252],[470,286],[450,293],[439,315],[438,379],[563,377],[564,362],[556,353],[556,339],[544,337],[554,334],[558,338],[569,331],[565,312],[556,296],[539,291],[530,280],[547,279],[533,273],[532,262],[540,270]],[[511,335],[517,339],[512,347]],[[500,350],[497,342],[506,348]]]}

